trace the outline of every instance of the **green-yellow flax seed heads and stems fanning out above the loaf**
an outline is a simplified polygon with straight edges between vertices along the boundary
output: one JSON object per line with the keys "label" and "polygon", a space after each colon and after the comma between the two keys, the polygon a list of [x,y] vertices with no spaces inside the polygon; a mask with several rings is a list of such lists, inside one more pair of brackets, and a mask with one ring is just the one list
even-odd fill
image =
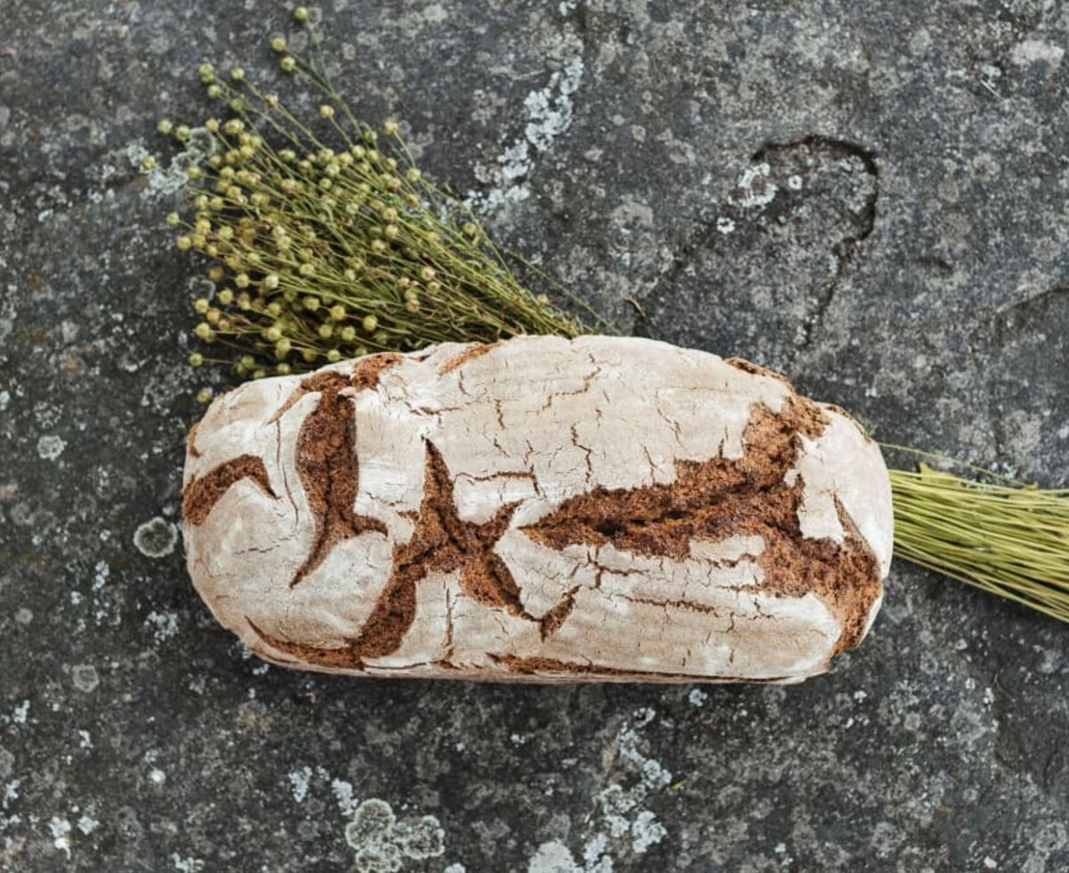
{"label": "green-yellow flax seed heads and stems fanning out above the loaf", "polygon": [[192,301],[206,347],[190,363],[263,377],[430,343],[580,332],[520,283],[463,204],[424,180],[396,122],[375,129],[353,114],[322,71],[314,32],[307,56],[281,36],[270,44],[280,68],[322,99],[313,122],[244,69],[203,63],[207,96],[228,118],[158,125],[198,157],[185,186],[191,215],[168,216],[176,244],[216,262],[218,290]]}

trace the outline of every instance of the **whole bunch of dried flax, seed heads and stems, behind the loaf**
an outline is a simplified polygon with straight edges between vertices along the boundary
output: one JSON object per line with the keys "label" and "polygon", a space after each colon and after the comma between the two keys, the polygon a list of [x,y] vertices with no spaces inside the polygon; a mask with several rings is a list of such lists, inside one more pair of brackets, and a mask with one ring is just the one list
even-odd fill
{"label": "whole bunch of dried flax, seed heads and stems, behind the loaf", "polygon": [[[306,9],[295,18],[308,26]],[[398,124],[354,115],[310,26],[306,42],[306,53],[282,36],[270,47],[322,100],[319,118],[301,120],[241,68],[205,63],[200,78],[228,118],[159,124],[189,162],[191,216],[168,223],[179,248],[215,262],[217,290],[192,301],[204,344],[192,365],[261,378],[446,341],[606,330],[588,309],[580,321],[525,287],[469,211],[423,177]],[[1069,621],[1069,490],[969,472],[892,470],[896,554]]]}

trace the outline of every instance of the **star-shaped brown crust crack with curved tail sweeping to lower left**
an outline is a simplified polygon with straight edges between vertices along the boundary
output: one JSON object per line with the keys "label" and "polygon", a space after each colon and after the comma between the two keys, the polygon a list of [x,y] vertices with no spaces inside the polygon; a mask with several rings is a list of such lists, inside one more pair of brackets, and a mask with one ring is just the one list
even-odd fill
{"label": "star-shaped brown crust crack with curved tail sweeping to lower left", "polygon": [[393,547],[393,572],[360,634],[336,649],[292,643],[253,630],[275,649],[320,667],[360,668],[367,658],[396,652],[416,620],[416,587],[430,573],[460,572],[461,591],[476,603],[530,621],[520,588],[494,546],[509,527],[517,503],[501,506],[483,524],[460,518],[453,480],[437,447],[427,442],[423,499],[412,539]]}

